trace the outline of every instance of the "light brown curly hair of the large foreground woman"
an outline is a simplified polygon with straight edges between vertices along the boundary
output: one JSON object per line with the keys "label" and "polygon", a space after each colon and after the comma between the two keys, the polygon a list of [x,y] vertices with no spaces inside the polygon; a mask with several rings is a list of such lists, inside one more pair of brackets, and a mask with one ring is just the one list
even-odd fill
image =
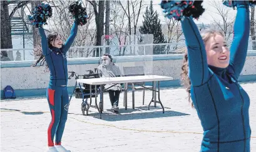
{"label": "light brown curly hair of the large foreground woman", "polygon": [[[210,38],[212,38],[212,37],[214,38],[216,35],[220,35],[220,36],[224,37],[223,33],[220,32],[220,31],[217,31],[215,29],[205,29],[201,33],[203,43],[204,44],[207,43],[207,41]],[[182,84],[185,86],[186,91],[188,93],[188,102],[190,103],[191,81],[190,81],[190,78],[188,76],[188,68],[189,68],[189,66],[188,66],[188,53],[187,53],[187,51],[185,51],[185,55],[184,55],[184,58],[183,58],[183,64],[182,64],[182,73],[180,75],[182,77]],[[192,104],[192,107],[194,107],[193,103],[191,103],[191,104]]]}

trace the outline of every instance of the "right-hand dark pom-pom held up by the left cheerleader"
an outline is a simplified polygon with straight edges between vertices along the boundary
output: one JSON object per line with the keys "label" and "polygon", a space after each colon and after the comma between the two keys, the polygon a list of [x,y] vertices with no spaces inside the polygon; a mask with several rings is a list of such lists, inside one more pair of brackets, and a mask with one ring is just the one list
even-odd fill
{"label": "right-hand dark pom-pom held up by the left cheerleader", "polygon": [[81,2],[76,1],[69,6],[69,13],[72,14],[73,18],[78,21],[80,26],[87,23],[88,15],[86,13],[86,8],[83,8]]}

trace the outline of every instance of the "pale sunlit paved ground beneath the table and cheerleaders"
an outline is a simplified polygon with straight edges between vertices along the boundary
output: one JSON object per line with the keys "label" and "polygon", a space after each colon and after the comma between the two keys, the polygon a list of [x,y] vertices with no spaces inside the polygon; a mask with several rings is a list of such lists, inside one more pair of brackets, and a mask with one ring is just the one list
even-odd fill
{"label": "pale sunlit paved ground beneath the table and cheerleaders", "polygon": [[[250,124],[252,127],[251,151],[256,151],[256,83],[244,83],[250,96]],[[73,152],[86,151],[182,151],[200,150],[202,127],[197,113],[190,108],[183,88],[161,90],[160,106],[141,106],[142,93],[137,92],[136,109],[131,108],[128,93],[128,110],[120,114],[110,112],[108,94],[105,99],[103,119],[96,109],[90,116],[81,114],[81,99],[73,98],[69,106],[68,121],[63,135],[63,145]],[[120,96],[122,101],[123,94]],[[146,92],[145,101],[151,93]],[[120,102],[123,106],[123,102]],[[1,102],[1,151],[44,151],[50,122],[46,99],[17,99]]]}

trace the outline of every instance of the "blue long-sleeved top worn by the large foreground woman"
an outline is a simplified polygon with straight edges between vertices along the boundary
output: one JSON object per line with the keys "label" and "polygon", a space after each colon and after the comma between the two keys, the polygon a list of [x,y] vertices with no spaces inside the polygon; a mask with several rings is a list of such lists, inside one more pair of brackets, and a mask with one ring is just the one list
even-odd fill
{"label": "blue long-sleeved top worn by the large foreground woman", "polygon": [[182,21],[182,29],[188,49],[192,101],[204,131],[201,151],[250,151],[250,99],[238,84],[247,56],[250,30],[248,5],[237,6],[227,68],[208,66],[205,45],[192,18]]}

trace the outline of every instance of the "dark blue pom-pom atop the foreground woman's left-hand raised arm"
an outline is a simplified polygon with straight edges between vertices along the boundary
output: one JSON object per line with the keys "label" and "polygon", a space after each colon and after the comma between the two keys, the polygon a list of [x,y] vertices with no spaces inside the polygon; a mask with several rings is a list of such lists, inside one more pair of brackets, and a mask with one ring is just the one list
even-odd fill
{"label": "dark blue pom-pom atop the foreground woman's left-hand raised arm", "polygon": [[190,16],[199,18],[205,11],[202,3],[203,1],[161,1],[160,5],[165,17],[180,21]]}

